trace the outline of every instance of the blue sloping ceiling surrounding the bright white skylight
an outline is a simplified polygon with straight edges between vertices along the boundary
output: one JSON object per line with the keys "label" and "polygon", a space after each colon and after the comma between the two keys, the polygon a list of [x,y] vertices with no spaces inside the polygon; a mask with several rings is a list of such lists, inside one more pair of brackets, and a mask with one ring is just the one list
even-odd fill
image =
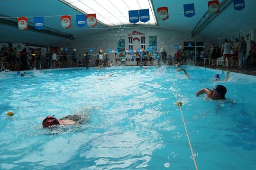
{"label": "blue sloping ceiling surrounding the bright white skylight", "polygon": [[[91,0],[89,0],[91,1]],[[108,0],[107,0],[108,1]],[[114,0],[112,0],[114,1]],[[117,0],[119,1],[119,0]],[[137,0],[138,1],[138,0]],[[219,0],[221,3],[225,0]],[[232,1],[232,0],[226,0]],[[97,0],[102,3],[106,0]],[[157,25],[149,27],[157,27],[161,29],[174,30],[184,33],[191,33],[199,20],[204,16],[208,10],[208,1],[205,0],[149,0],[152,2]],[[184,17],[183,4],[194,3],[195,16],[189,18]],[[132,6],[133,4],[127,4]],[[212,38],[216,36],[225,36],[228,34],[237,34],[240,30],[249,31],[256,27],[254,22],[256,14],[253,8],[256,6],[255,0],[246,0],[246,8],[242,11],[234,10],[233,3],[215,17],[205,28],[202,29],[200,36],[204,38]],[[168,7],[169,19],[162,21],[157,18],[157,8]],[[143,8],[143,7],[141,7]],[[111,10],[110,10],[111,11]],[[128,11],[127,11],[128,13]],[[89,34],[95,34],[107,29],[116,28],[117,26],[106,26],[98,23],[96,27],[80,28],[75,26],[75,16],[82,14],[81,11],[65,4],[63,0],[1,0],[0,1],[0,42],[28,42],[45,45],[61,45],[73,41],[72,38],[78,39],[86,37]],[[69,29],[61,27],[60,16],[72,15],[73,26]],[[54,36],[51,34],[42,34],[33,30],[19,30],[17,17],[28,17],[28,22],[33,24],[33,17],[44,16],[46,31],[55,32]],[[6,24],[6,20],[11,21],[14,26]],[[8,23],[8,22],[7,22]],[[134,26],[134,25],[123,25]],[[145,25],[136,25],[145,26]],[[66,36],[68,38],[62,37]]]}

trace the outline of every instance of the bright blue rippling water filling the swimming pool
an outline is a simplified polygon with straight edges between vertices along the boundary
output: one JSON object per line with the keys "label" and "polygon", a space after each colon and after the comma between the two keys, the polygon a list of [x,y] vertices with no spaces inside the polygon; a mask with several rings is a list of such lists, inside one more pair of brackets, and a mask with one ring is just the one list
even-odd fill
{"label": "bright blue rippling water filling the swimming pool", "polygon": [[[230,73],[228,82],[213,82],[226,72],[186,69],[189,77],[173,67],[1,73],[0,169],[194,170],[180,98],[200,170],[254,170],[256,77]],[[219,84],[228,89],[225,101],[195,96]],[[75,113],[91,122],[42,128],[47,115]]]}

